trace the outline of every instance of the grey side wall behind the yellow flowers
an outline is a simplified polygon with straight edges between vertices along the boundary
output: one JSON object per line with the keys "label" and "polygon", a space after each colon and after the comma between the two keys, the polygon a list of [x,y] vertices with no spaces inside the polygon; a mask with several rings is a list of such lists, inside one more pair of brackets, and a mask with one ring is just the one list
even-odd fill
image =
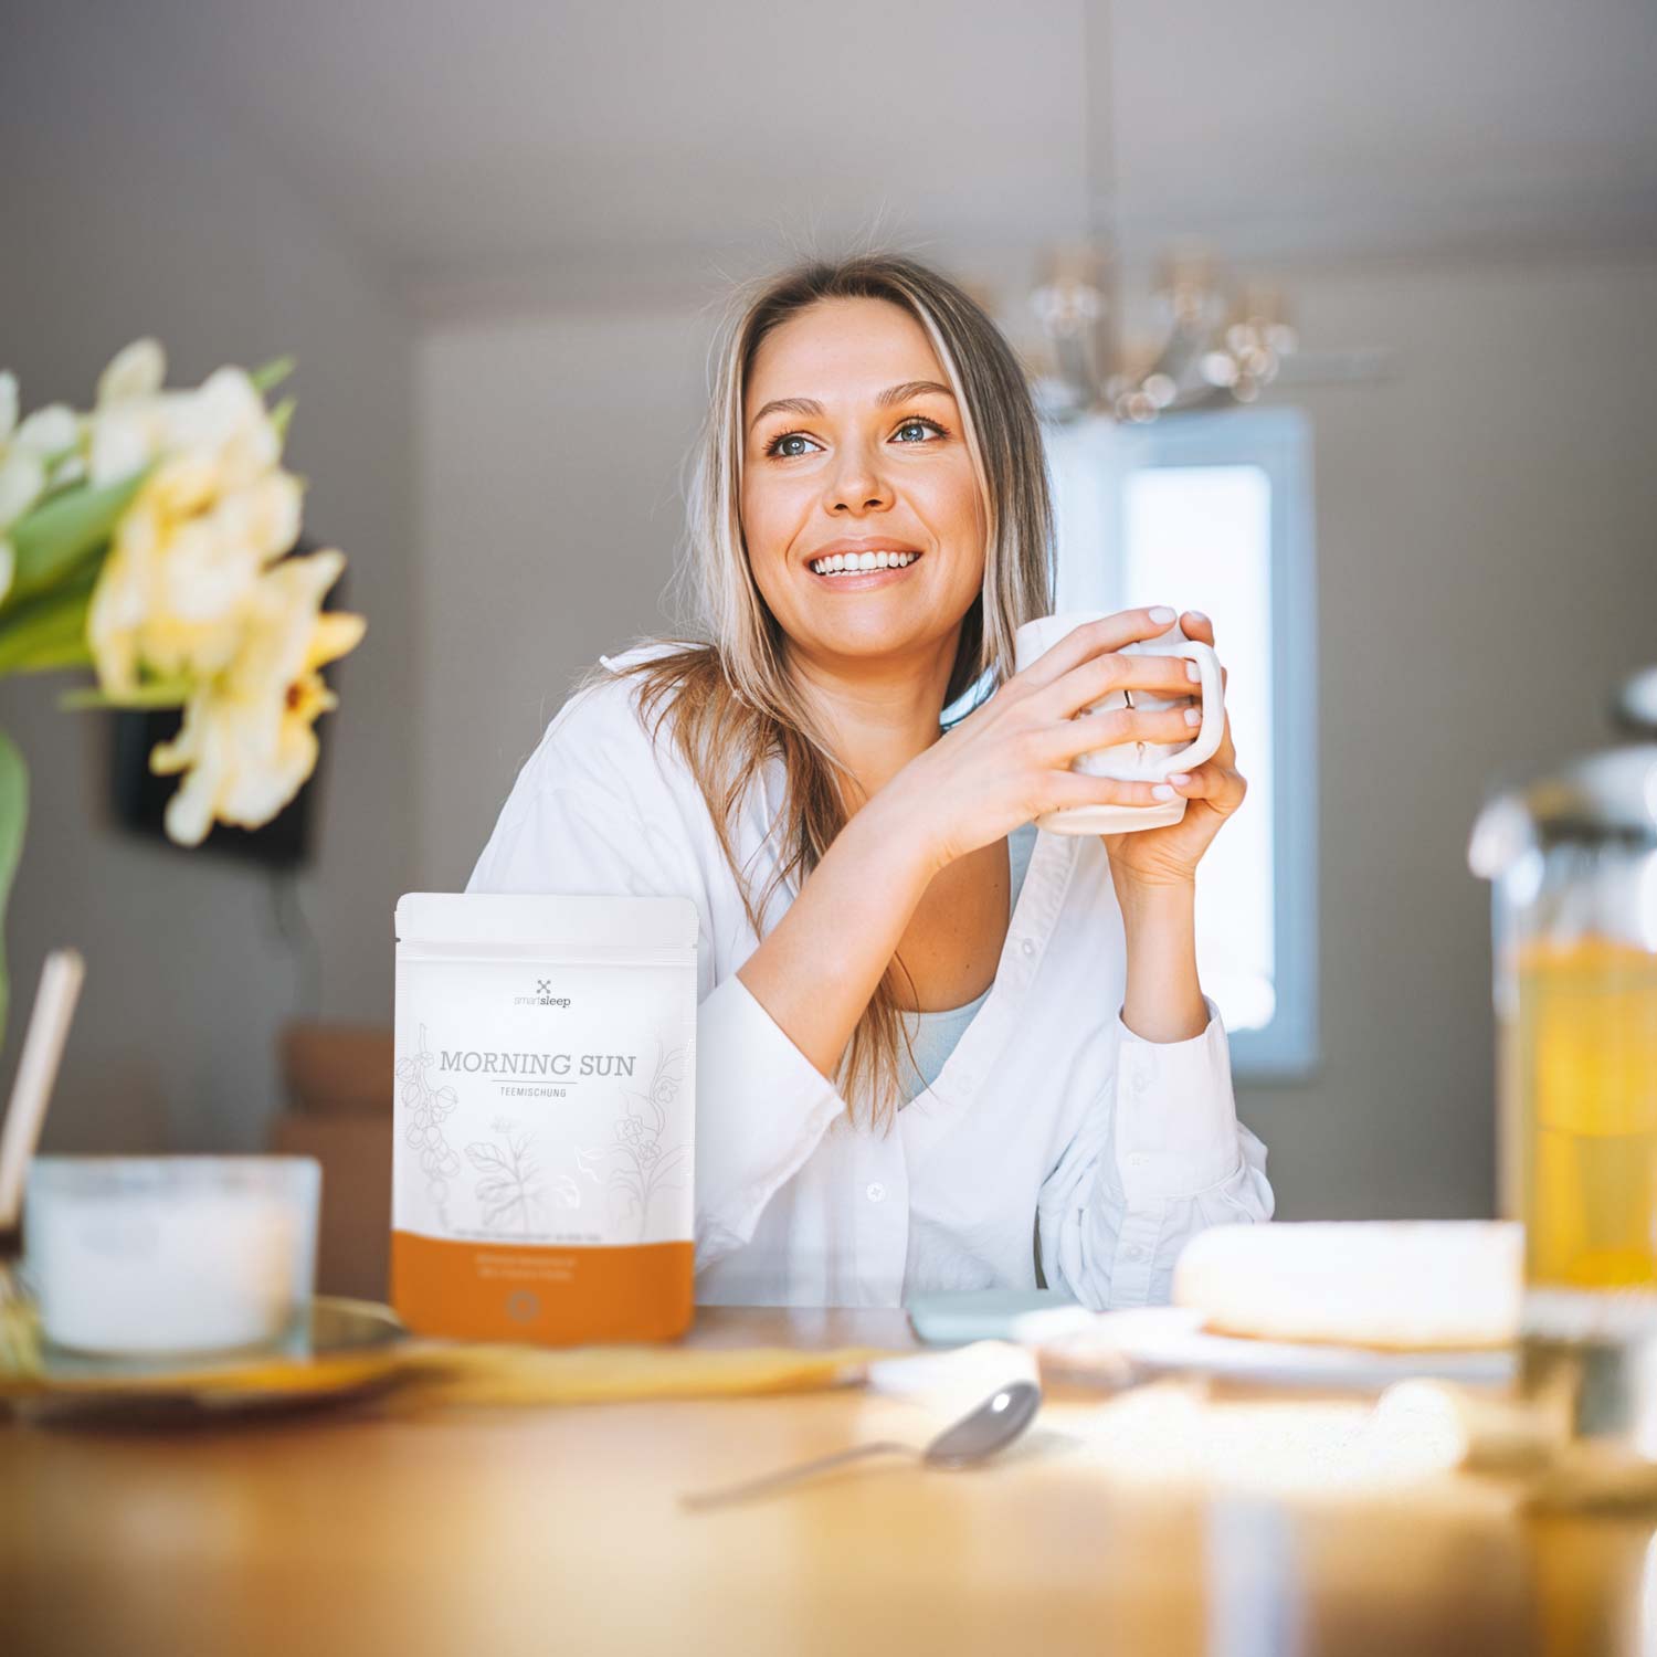
{"label": "grey side wall behind the yellow flowers", "polygon": [[88,979],[46,1147],[252,1147],[288,1012],[389,1016],[416,757],[411,336],[336,227],[179,85],[143,17],[101,10],[80,28],[56,8],[7,18],[0,366],[25,408],[86,406],[139,333],[166,343],[174,384],[295,353],[288,464],[310,477],[307,525],[346,552],[350,606],[370,620],[330,669],[341,711],[323,722],[321,855],[298,882],[315,954],[282,941],[265,877],[106,825],[106,726],[56,711],[61,676],[0,684],[35,782],[7,928],[8,1057],[43,953],[78,944]]}

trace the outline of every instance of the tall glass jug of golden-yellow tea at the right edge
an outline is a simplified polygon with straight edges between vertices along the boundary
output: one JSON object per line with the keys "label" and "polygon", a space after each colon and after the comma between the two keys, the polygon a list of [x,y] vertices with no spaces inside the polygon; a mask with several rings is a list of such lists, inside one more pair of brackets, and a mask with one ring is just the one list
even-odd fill
{"label": "tall glass jug of golden-yellow tea at the right edge", "polygon": [[1617,714],[1630,741],[1491,800],[1468,848],[1493,882],[1498,1186],[1524,1225],[1533,1380],[1551,1344],[1657,1336],[1657,669]]}

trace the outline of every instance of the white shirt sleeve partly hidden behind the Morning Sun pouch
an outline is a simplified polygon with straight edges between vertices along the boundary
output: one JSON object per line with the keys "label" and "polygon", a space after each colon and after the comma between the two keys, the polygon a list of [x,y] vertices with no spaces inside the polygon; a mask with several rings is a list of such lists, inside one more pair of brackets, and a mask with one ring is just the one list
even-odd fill
{"label": "white shirt sleeve partly hidden behind the Morning Sun pouch", "polygon": [[[525,766],[466,890],[638,893],[696,903],[701,1271],[747,1244],[766,1203],[810,1157],[845,1102],[734,973],[711,981],[708,890],[684,840],[592,779],[558,780],[552,759],[543,744]],[[651,815],[676,822],[671,809]]]}

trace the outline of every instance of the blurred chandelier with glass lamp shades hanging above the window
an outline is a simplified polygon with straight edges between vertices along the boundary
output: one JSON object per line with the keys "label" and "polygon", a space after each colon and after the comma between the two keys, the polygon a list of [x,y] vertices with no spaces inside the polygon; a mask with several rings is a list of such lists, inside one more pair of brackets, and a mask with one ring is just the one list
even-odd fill
{"label": "blurred chandelier with glass lamp shades hanging above the window", "polygon": [[1205,249],[1165,255],[1152,283],[1155,333],[1123,326],[1120,267],[1102,240],[1059,244],[1041,258],[1029,307],[1041,330],[1036,384],[1059,419],[1147,424],[1162,414],[1253,403],[1296,348],[1281,292],[1233,283]]}

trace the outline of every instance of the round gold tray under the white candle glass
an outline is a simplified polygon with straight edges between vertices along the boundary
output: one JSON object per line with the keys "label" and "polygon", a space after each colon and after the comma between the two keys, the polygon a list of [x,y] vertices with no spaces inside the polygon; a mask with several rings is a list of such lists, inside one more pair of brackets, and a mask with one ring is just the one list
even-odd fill
{"label": "round gold tray under the white candle glass", "polygon": [[386,1380],[408,1339],[389,1306],[320,1294],[308,1326],[273,1352],[83,1357],[41,1342],[33,1306],[13,1297],[0,1302],[0,1403],[124,1417],[293,1408]]}

